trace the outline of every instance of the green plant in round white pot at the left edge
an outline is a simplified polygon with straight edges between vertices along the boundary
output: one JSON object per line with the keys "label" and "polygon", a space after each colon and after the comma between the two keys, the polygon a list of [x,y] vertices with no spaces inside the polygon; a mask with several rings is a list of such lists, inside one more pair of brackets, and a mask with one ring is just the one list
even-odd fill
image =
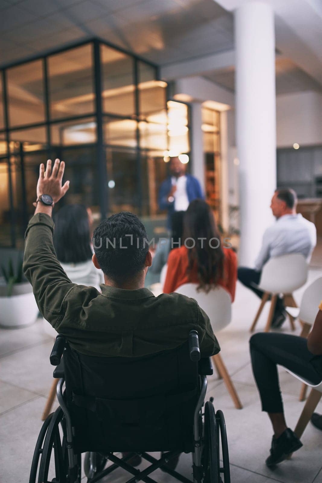
{"label": "green plant in round white pot at the left edge", "polygon": [[5,284],[0,285],[0,326],[26,327],[33,324],[38,315],[38,307],[32,293],[32,286],[23,279],[22,256],[14,270],[10,258],[8,267],[1,266]]}

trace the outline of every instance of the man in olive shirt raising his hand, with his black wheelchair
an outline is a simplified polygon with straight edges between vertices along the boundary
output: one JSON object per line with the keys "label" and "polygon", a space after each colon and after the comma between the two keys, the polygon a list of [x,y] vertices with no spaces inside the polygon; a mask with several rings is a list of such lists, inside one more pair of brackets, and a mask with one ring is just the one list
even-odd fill
{"label": "man in olive shirt raising his hand, with his black wheelchair", "polygon": [[[116,467],[134,475],[129,482],[153,483],[148,475],[162,468],[188,483],[168,464],[182,452],[193,455],[195,482],[220,482],[220,472],[229,482],[223,414],[215,414],[212,401],[202,414],[209,356],[220,351],[209,317],[192,298],[154,297],[144,288],[152,257],[145,228],[132,213],[114,214],[94,231],[93,263],[104,273],[102,293],[71,283],[56,258],[51,217],[69,188],[69,181],[62,185],[64,169],[59,159],[53,166],[48,160],[46,170],[41,164],[36,210],[25,235],[24,274],[40,312],[59,334],[51,362],[58,366],[60,407],[42,426],[29,482],[37,475],[38,482],[47,482],[51,461],[51,481],[79,482],[84,452],[93,483]],[[162,452],[159,460],[147,453],[154,451]],[[135,469],[138,457],[151,466]],[[113,464],[104,470],[107,459]]]}

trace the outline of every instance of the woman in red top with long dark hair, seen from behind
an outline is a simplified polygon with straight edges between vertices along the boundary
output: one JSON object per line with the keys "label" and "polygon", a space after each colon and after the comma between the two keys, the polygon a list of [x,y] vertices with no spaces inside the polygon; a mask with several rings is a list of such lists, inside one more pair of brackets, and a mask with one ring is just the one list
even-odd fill
{"label": "woman in red top with long dark hair, seen from behind", "polygon": [[[231,248],[223,248],[210,206],[202,199],[189,204],[183,221],[181,248],[171,250],[163,292],[169,294],[183,284],[198,284],[209,292],[221,285],[235,298],[237,256]],[[195,245],[194,245],[195,241]],[[217,247],[217,245],[219,246]]]}

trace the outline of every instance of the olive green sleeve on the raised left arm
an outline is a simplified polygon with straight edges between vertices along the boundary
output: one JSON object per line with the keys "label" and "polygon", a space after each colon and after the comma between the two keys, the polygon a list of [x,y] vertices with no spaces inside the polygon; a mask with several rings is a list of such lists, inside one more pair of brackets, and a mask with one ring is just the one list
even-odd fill
{"label": "olive green sleeve on the raised left arm", "polygon": [[53,244],[54,222],[45,213],[35,214],[25,233],[24,274],[32,285],[42,316],[55,327],[65,314],[64,299],[71,283],[57,260]]}

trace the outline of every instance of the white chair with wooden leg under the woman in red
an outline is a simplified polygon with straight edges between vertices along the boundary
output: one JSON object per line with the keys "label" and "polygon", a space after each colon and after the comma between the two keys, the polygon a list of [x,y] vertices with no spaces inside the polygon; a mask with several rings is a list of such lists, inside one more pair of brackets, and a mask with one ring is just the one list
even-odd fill
{"label": "white chair with wooden leg under the woman in red", "polygon": [[[231,298],[228,292],[221,286],[210,290],[208,294],[203,291],[197,292],[197,284],[183,284],[176,292],[186,297],[194,298],[209,316],[210,324],[215,335],[231,322]],[[235,404],[236,409],[242,409],[237,391],[230,379],[224,361],[220,354],[213,355],[212,361],[217,369],[220,379],[224,380],[228,392]]]}

